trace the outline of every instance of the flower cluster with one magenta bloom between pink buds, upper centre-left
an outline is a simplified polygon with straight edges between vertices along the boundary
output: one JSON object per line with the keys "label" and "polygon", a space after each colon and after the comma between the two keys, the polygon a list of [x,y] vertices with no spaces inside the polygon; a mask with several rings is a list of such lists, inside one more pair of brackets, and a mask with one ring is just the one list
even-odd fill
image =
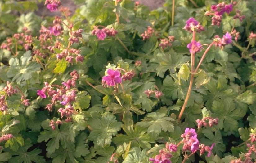
{"label": "flower cluster with one magenta bloom between pink buds, upper centre-left", "polygon": [[94,26],[94,29],[92,30],[92,35],[96,35],[98,40],[104,40],[106,36],[115,36],[118,31],[116,31],[113,27],[110,29],[103,27],[102,29],[98,29],[98,27],[103,26]]}

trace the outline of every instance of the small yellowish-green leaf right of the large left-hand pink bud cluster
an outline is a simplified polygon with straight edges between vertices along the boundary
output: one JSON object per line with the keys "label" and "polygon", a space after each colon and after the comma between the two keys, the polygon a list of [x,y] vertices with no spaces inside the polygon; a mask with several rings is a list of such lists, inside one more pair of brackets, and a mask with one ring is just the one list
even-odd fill
{"label": "small yellowish-green leaf right of the large left-hand pink bud cluster", "polygon": [[76,94],[76,102],[74,102],[74,109],[87,109],[90,106],[91,96],[86,91],[79,91]]}

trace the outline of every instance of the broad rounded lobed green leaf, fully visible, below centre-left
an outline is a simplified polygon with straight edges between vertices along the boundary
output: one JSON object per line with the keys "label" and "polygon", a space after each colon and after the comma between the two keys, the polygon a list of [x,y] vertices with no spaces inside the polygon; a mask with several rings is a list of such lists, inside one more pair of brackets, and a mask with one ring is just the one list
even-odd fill
{"label": "broad rounded lobed green leaf, fully visible, below centre-left", "polygon": [[92,131],[88,139],[102,147],[105,144],[110,144],[112,136],[117,134],[122,124],[115,119],[115,116],[109,112],[102,115],[101,119],[89,119],[88,123],[92,127]]}

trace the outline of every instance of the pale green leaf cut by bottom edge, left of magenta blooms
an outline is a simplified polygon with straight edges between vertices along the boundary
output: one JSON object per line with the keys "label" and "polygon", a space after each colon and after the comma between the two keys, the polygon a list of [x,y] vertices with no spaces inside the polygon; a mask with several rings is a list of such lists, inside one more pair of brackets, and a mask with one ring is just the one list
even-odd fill
{"label": "pale green leaf cut by bottom edge, left of magenta blooms", "polygon": [[123,163],[148,163],[149,158],[147,157],[147,149],[141,151],[138,147],[133,147],[128,152]]}

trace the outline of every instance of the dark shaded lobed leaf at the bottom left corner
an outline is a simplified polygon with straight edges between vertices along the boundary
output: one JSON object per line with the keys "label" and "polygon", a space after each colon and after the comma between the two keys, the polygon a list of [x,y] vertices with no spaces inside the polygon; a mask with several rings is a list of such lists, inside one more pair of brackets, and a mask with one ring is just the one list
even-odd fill
{"label": "dark shaded lobed leaf at the bottom left corner", "polygon": [[45,163],[43,156],[38,155],[42,151],[36,148],[28,152],[30,147],[32,147],[31,140],[26,139],[24,145],[19,147],[17,151],[7,149],[12,154],[12,157],[8,161],[15,163],[31,163],[32,161],[35,163]]}

